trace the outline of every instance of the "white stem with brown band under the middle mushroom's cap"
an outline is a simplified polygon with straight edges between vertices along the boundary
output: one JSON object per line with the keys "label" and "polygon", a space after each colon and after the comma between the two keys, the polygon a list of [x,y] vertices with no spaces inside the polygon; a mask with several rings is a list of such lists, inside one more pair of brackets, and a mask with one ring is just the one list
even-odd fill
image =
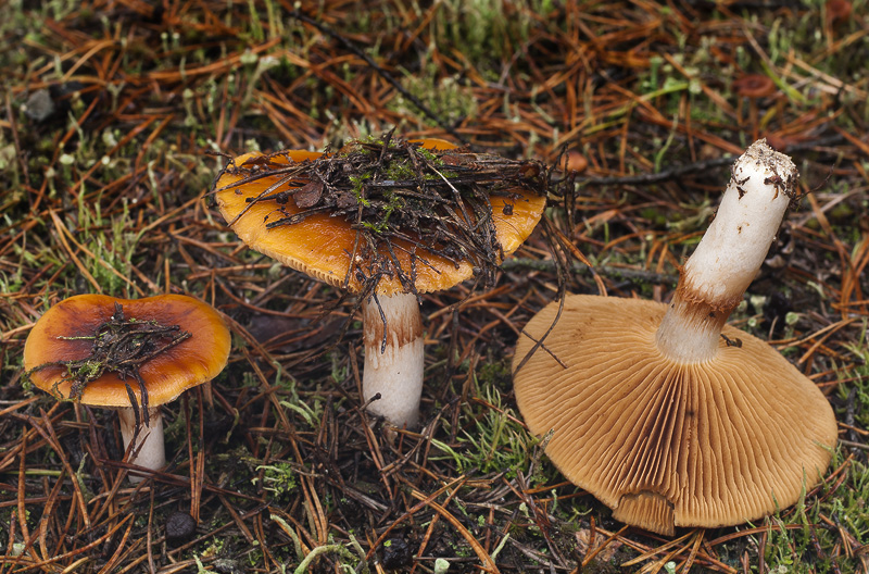
{"label": "white stem with brown band under the middle mushroom's cap", "polygon": [[[379,305],[378,305],[379,303]],[[382,314],[381,314],[382,312]],[[362,303],[365,371],[362,395],[368,410],[395,426],[414,426],[423,395],[423,319],[413,294],[377,296]],[[383,334],[386,333],[386,338]]]}

